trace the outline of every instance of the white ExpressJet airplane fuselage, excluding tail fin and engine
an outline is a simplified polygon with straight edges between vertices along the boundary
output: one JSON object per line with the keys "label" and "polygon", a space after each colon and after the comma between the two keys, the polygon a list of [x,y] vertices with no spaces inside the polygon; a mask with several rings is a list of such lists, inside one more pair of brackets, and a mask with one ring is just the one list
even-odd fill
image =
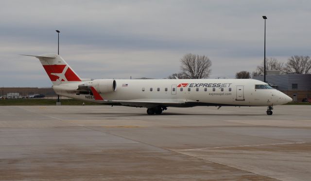
{"label": "white ExpressJet airplane fuselage, excluding tail fin and engine", "polygon": [[[74,99],[111,104],[113,101],[135,102],[176,102],[169,106],[273,106],[291,102],[286,94],[268,89],[267,83],[254,79],[117,79],[116,90],[99,93],[103,100],[95,96],[77,93],[84,82],[54,85],[59,95]],[[260,87],[261,86],[261,87]],[[140,106],[141,104],[139,104]],[[145,106],[148,107],[148,106]]]}

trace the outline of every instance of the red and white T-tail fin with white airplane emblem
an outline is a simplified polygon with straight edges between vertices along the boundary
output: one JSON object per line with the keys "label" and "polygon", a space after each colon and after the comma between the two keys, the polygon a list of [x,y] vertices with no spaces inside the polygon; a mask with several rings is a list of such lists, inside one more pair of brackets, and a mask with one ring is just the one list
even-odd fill
{"label": "red and white T-tail fin with white airplane emblem", "polygon": [[81,82],[81,78],[71,67],[57,54],[25,55],[38,58],[50,77],[53,85],[70,82]]}

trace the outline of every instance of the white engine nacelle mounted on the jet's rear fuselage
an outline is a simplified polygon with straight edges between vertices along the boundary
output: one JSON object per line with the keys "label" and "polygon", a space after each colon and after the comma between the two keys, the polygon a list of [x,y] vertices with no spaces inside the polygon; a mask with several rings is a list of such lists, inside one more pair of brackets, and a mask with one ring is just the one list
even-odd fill
{"label": "white engine nacelle mounted on the jet's rear fuselage", "polygon": [[89,87],[94,87],[98,93],[107,93],[117,90],[117,82],[114,79],[96,79],[93,80]]}

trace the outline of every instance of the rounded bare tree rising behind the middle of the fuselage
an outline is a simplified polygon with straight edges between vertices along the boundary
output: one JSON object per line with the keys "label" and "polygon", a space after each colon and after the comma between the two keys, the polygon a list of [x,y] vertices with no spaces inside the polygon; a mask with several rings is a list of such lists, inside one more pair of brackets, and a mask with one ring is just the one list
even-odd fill
{"label": "rounded bare tree rising behind the middle of the fuselage", "polygon": [[205,55],[186,54],[180,60],[183,74],[192,79],[207,78],[212,62]]}

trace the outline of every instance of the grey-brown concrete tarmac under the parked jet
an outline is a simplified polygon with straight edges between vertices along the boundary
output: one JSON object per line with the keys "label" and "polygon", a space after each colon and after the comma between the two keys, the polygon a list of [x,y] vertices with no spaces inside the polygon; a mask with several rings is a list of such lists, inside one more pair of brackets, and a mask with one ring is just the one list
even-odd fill
{"label": "grey-brown concrete tarmac under the parked jet", "polygon": [[0,180],[311,178],[311,106],[0,106]]}

